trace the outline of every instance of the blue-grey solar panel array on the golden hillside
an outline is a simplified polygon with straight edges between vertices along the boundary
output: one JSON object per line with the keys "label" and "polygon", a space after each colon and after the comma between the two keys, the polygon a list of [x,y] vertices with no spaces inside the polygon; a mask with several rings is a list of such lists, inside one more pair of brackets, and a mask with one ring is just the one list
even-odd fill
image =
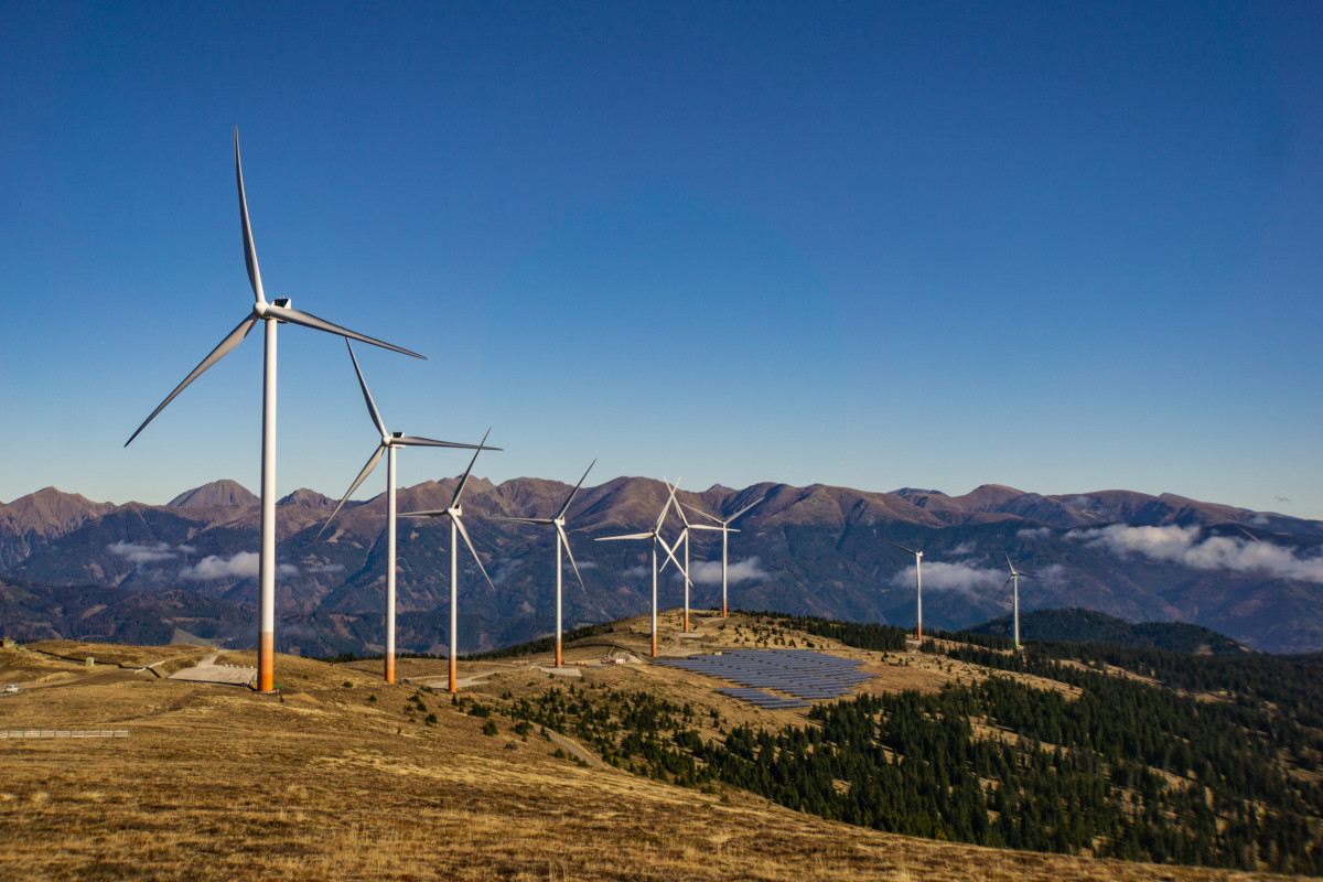
{"label": "blue-grey solar panel array on the golden hillside", "polygon": [[[732,649],[720,656],[658,659],[658,664],[746,686],[717,692],[759,707],[807,707],[810,701],[840,698],[872,678],[872,674],[859,670],[859,661],[808,649]],[[794,698],[763,689],[775,689]]]}

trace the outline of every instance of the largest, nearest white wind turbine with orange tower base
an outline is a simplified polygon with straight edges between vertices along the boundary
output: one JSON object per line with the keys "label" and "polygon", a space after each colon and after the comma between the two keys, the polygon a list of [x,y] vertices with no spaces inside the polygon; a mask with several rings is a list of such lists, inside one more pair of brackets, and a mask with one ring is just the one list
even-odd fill
{"label": "largest, nearest white wind turbine with orange tower base", "polygon": [[280,298],[267,303],[262,291],[262,274],[257,266],[257,249],[253,246],[253,227],[247,218],[247,200],[243,196],[243,168],[239,164],[239,130],[234,130],[234,176],[239,186],[239,223],[243,227],[243,262],[247,264],[249,284],[253,287],[253,312],[249,313],[238,327],[221,341],[212,354],[206,356],[193,373],[184,378],[169,395],[165,397],[151,417],[143,421],[124,447],[128,447],[139,432],[147,428],[147,423],[156,418],[156,414],[165,409],[165,405],[175,401],[191,382],[197,380],[208,368],[228,356],[238,346],[243,337],[257,325],[258,321],[266,327],[266,358],[262,373],[262,546],[261,546],[261,586],[262,586],[262,620],[261,641],[258,644],[257,684],[258,692],[271,692],[275,685],[275,329],[279,324],[298,324],[314,331],[325,331],[341,337],[353,337],[374,346],[393,349],[406,356],[422,358],[417,352],[393,346],[373,337],[366,337],[348,328],[331,324],[307,312],[300,312],[290,305],[288,298]]}

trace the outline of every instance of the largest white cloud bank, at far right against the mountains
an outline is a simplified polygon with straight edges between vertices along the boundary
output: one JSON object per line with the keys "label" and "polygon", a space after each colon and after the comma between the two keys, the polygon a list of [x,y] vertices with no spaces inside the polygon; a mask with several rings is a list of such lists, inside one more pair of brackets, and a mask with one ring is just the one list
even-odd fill
{"label": "largest white cloud bank, at far right against the mountains", "polygon": [[1195,570],[1266,573],[1282,579],[1323,584],[1323,557],[1297,557],[1295,549],[1262,540],[1209,536],[1200,540],[1197,526],[1126,526],[1113,524],[1090,530],[1070,530],[1068,540],[1103,549],[1117,557],[1139,554],[1150,561],[1183,563]]}

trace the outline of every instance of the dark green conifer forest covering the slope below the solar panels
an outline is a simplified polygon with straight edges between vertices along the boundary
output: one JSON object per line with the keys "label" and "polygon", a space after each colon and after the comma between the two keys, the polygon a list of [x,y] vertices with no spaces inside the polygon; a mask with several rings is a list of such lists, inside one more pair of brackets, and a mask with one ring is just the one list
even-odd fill
{"label": "dark green conifer forest covering the slope below the solar panels", "polygon": [[[511,702],[508,713],[574,735],[636,774],[740,787],[882,830],[1323,873],[1323,734],[1302,725],[1299,713],[1250,696],[1200,700],[1041,648],[1020,657],[957,645],[949,657],[953,669],[968,662],[1004,673],[962,676],[930,694],[820,703],[804,726],[775,733],[595,686],[550,689]],[[1312,694],[1318,668],[1298,673],[1315,684],[1274,694]],[[1252,668],[1242,680],[1258,676]]]}

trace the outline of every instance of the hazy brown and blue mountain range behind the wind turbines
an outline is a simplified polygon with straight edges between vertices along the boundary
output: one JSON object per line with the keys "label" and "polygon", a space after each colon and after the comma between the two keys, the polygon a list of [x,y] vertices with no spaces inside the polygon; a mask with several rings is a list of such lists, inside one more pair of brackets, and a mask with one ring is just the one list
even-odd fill
{"label": "hazy brown and blue mountain range behind the wind turbines", "polygon": [[[400,489],[400,510],[445,508],[455,481]],[[553,627],[554,533],[483,516],[548,517],[570,489],[531,477],[500,485],[471,479],[466,522],[495,590],[462,549],[462,651]],[[665,499],[665,485],[644,477],[583,488],[569,528],[585,587],[569,575],[566,627],[647,611],[648,545],[591,540],[648,529]],[[763,500],[730,536],[733,607],[912,625],[913,558],[885,537],[925,551],[925,628],[955,631],[1003,615],[1009,555],[1033,574],[1020,583],[1024,611],[1080,607],[1126,621],[1187,621],[1265,652],[1323,649],[1320,521],[1170,493],[1043,496],[998,484],[947,496],[762,483],[680,491],[679,499],[713,514]],[[282,651],[380,651],[384,506],[384,495],[345,505],[314,543],[335,500],[299,489],[279,501]],[[258,516],[257,496],[230,480],[167,505],[94,502],[56,488],[0,505],[0,627],[33,637],[71,637],[82,628],[81,639],[120,641],[132,633],[155,640],[177,628],[221,645],[249,645]],[[677,532],[672,513],[667,536]],[[446,648],[448,541],[443,521],[401,521],[401,651]],[[720,606],[720,534],[692,534],[695,607]],[[660,604],[680,602],[679,577],[668,569]]]}

